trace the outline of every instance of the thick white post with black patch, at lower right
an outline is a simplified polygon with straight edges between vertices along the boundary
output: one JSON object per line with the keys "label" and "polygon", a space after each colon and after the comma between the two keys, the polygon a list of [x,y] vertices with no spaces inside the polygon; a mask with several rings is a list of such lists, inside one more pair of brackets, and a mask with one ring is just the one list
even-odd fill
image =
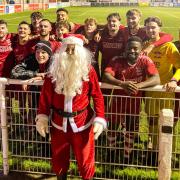
{"label": "thick white post with black patch, at lower right", "polygon": [[170,180],[174,113],[162,109],[159,118],[158,180]]}

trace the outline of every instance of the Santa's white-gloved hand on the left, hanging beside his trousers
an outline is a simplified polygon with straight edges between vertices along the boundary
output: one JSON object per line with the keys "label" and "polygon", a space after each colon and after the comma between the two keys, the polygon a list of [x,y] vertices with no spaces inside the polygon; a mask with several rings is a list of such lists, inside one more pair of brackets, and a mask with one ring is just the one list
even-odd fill
{"label": "Santa's white-gloved hand on the left, hanging beside his trousers", "polygon": [[36,116],[36,130],[42,137],[46,137],[46,133],[49,133],[48,129],[48,117],[43,114]]}

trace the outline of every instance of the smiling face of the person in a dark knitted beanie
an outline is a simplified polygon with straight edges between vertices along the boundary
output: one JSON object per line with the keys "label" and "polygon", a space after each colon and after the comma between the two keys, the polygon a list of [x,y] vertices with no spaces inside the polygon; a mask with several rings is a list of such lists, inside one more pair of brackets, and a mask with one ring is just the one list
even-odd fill
{"label": "smiling face of the person in a dark knitted beanie", "polygon": [[49,54],[40,48],[36,49],[35,57],[39,64],[44,64],[49,60]]}

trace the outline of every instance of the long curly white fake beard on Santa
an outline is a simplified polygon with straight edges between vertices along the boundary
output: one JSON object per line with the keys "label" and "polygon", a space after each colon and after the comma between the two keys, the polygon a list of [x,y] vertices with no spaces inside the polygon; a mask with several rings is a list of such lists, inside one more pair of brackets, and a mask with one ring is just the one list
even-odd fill
{"label": "long curly white fake beard on Santa", "polygon": [[83,80],[88,81],[89,64],[82,61],[82,54],[78,54],[68,55],[63,52],[61,55],[57,55],[57,58],[55,57],[56,62],[54,62],[51,72],[56,83],[56,93],[69,97],[81,94]]}

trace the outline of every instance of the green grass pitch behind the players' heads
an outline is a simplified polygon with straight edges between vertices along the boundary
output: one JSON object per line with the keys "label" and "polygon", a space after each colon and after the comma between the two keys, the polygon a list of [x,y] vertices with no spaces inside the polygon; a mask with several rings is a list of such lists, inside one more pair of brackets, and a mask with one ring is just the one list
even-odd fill
{"label": "green grass pitch behind the players' heads", "polygon": [[[77,23],[83,23],[88,17],[95,17],[99,24],[106,23],[106,17],[109,13],[119,12],[122,17],[122,24],[126,24],[125,14],[127,10],[137,8],[142,12],[143,25],[144,19],[149,16],[158,16],[163,22],[162,30],[174,36],[174,40],[179,39],[180,28],[180,8],[171,7],[67,7],[70,20]],[[45,18],[52,22],[56,19],[56,9],[42,11]],[[30,22],[30,11],[23,13],[14,13],[1,15],[1,19],[7,20],[9,32],[16,32],[19,22],[26,20]]]}

